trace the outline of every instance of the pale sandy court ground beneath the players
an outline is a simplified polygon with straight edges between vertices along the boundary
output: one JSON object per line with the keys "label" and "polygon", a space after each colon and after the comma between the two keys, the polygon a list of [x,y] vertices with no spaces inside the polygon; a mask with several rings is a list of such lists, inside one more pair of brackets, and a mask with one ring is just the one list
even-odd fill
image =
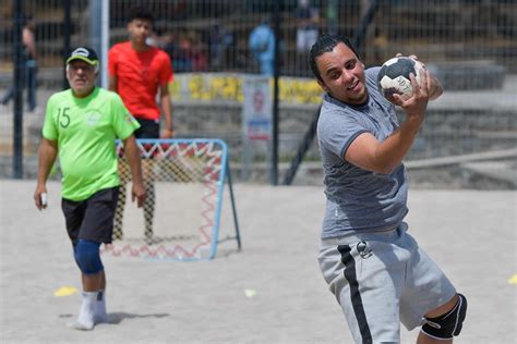
{"label": "pale sandy court ground beneath the players", "polygon": [[[241,253],[227,242],[211,261],[105,256],[110,323],[79,332],[65,324],[80,295],[53,296],[80,288],[59,184],[41,212],[35,181],[0,185],[1,343],[352,343],[316,262],[322,187],[235,185]],[[233,231],[225,195],[221,235]],[[456,343],[515,343],[517,193],[411,191],[409,207],[410,233],[469,299]],[[416,336],[402,330],[402,343]]]}

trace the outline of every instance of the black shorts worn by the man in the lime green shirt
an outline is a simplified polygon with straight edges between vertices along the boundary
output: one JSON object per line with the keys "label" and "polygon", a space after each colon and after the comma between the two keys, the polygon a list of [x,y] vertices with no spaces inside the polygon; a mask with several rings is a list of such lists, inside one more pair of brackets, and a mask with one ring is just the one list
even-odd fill
{"label": "black shorts worn by the man in the lime green shirt", "polygon": [[111,243],[118,199],[118,186],[101,189],[85,200],[62,198],[61,208],[67,232],[74,246],[80,238],[95,243]]}

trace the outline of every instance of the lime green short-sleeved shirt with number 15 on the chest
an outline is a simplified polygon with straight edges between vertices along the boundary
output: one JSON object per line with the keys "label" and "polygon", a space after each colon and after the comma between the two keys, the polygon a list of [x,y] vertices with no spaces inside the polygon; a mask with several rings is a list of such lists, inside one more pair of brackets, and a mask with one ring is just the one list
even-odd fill
{"label": "lime green short-sleeved shirt with number 15 on the chest", "polygon": [[58,143],[62,197],[83,200],[120,185],[116,139],[139,127],[116,93],[96,87],[86,98],[74,97],[71,89],[52,95],[43,136]]}

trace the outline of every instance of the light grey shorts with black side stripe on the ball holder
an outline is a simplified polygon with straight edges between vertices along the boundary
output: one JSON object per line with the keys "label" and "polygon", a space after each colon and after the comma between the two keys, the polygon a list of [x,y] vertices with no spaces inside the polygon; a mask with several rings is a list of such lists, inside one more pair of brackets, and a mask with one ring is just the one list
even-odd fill
{"label": "light grey shorts with black side stripe on the ball holder", "polygon": [[322,239],[323,277],[357,343],[399,343],[400,322],[408,330],[421,325],[456,294],[407,228]]}

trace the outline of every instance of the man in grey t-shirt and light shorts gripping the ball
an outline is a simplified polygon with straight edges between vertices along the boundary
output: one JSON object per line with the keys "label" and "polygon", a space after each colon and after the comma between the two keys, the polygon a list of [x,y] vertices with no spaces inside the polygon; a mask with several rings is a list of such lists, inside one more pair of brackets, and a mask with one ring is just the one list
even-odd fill
{"label": "man in grey t-shirt and light shorts gripping the ball", "polygon": [[[414,56],[411,58],[417,59]],[[323,35],[310,65],[325,90],[317,137],[327,198],[318,261],[357,343],[398,343],[400,322],[421,327],[418,343],[452,343],[467,299],[420,248],[402,221],[407,174],[402,159],[440,83],[411,76],[413,96],[377,90],[378,67],[365,70],[346,38]],[[399,124],[395,106],[406,113]]]}

